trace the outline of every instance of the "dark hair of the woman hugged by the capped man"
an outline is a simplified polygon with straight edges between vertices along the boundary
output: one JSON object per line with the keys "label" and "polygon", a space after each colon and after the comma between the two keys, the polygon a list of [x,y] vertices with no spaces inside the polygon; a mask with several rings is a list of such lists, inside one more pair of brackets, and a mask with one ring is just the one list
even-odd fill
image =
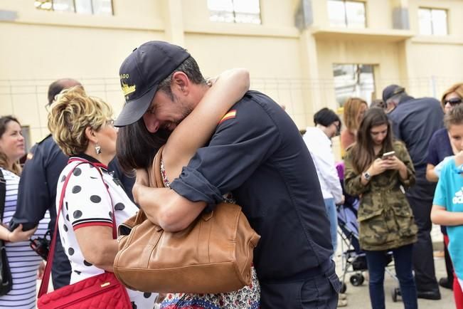
{"label": "dark hair of the woman hugged by the capped man", "polygon": [[166,144],[170,134],[168,130],[149,132],[143,118],[132,125],[120,127],[117,133],[116,156],[124,172],[132,173],[134,169],[148,169],[153,163],[156,152]]}

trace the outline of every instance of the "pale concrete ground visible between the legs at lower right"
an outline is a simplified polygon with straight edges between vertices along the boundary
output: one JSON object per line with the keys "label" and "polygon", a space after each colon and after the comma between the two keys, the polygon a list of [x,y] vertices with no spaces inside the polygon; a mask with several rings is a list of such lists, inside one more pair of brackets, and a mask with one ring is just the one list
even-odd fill
{"label": "pale concrete ground visible between the legs at lower right", "polygon": [[[435,243],[435,248],[440,249],[441,248],[440,239],[442,239],[442,235],[440,234],[438,227],[433,228],[432,239]],[[340,243],[339,243],[339,247],[340,247]],[[341,276],[342,274],[340,254],[341,254],[341,248],[338,248],[335,261],[336,261],[336,273],[338,273],[339,276]],[[444,258],[435,257],[434,263],[435,263],[435,268],[436,268],[437,280],[439,280],[439,278],[445,277],[446,272],[445,272]],[[391,268],[391,271],[393,271],[393,268]],[[368,273],[367,272],[363,273],[363,276],[366,277],[366,280],[362,286],[352,286],[352,284],[349,282],[349,278],[352,274],[353,273],[348,273],[346,275],[346,295],[347,295],[348,305],[343,308],[346,308],[346,309],[371,308],[370,296],[368,294]],[[402,309],[403,303],[400,301],[400,296],[398,298],[397,303],[393,302],[393,299],[391,296],[391,290],[393,290],[393,288],[398,287],[398,281],[396,281],[394,278],[392,278],[386,273],[384,287],[385,287],[386,308]],[[452,309],[452,308],[455,308],[452,290],[448,290],[446,288],[440,288],[440,293],[442,296],[441,300],[425,300],[425,299],[418,298],[418,307],[420,309],[428,309],[428,308],[429,309],[431,308],[432,309],[434,308]]]}

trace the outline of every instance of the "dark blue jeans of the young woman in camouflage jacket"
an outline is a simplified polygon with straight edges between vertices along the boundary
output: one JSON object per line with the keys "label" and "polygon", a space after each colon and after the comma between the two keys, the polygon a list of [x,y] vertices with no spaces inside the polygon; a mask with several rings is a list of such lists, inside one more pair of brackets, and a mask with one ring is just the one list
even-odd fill
{"label": "dark blue jeans of the young woman in camouflage jacket", "polygon": [[[394,255],[395,275],[399,279],[405,309],[417,309],[416,286],[412,271],[413,245],[401,246],[392,250]],[[387,251],[365,251],[370,276],[371,308],[384,309],[384,268],[388,263]]]}

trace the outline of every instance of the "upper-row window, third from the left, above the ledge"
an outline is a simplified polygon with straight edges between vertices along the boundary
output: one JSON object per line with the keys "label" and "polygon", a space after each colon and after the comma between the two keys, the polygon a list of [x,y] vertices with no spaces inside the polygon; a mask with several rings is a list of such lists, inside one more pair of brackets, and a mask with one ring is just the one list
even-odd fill
{"label": "upper-row window, third from the left, above the ledge", "polygon": [[329,23],[334,27],[365,28],[365,4],[362,1],[328,0]]}

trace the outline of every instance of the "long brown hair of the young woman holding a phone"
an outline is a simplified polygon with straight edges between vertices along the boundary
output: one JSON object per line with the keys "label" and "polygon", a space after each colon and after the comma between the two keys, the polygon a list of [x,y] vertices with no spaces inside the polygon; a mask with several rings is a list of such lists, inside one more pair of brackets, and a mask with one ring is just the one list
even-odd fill
{"label": "long brown hair of the young woman holding a phone", "polygon": [[383,140],[383,152],[393,150],[393,132],[388,116],[382,108],[370,108],[365,112],[365,116],[358,126],[357,142],[351,150],[352,165],[358,174],[368,169],[376,157],[370,131],[378,125],[388,125],[388,134]]}

